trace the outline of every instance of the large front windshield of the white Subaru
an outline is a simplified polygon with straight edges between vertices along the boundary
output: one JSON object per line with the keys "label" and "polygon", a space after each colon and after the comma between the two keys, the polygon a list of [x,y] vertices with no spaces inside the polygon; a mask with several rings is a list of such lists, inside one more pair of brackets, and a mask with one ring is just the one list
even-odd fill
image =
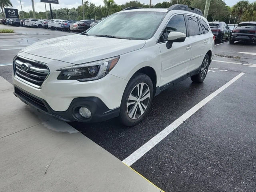
{"label": "large front windshield of the white Subaru", "polygon": [[154,35],[165,12],[118,12],[105,18],[87,31],[91,36],[114,36],[129,39],[149,39]]}

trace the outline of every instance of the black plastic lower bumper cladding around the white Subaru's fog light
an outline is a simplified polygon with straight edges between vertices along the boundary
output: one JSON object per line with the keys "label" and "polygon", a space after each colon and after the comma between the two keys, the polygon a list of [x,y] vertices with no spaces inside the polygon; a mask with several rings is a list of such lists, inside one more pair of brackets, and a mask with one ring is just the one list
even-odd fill
{"label": "black plastic lower bumper cladding around the white Subaru's fog light", "polygon": [[[48,103],[35,95],[32,95],[25,90],[14,85],[14,95],[22,102],[36,108],[38,112],[54,116],[60,120],[67,122],[100,122],[119,116],[120,108],[110,110],[103,102],[97,97],[80,97],[74,98],[66,111],[54,111]],[[92,113],[90,118],[84,118],[79,115],[78,110],[80,107],[86,107]]]}

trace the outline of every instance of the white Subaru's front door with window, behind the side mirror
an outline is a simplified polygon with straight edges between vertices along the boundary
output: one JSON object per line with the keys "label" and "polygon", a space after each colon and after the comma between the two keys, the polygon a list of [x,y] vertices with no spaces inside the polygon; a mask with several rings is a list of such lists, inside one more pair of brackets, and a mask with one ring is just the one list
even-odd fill
{"label": "white Subaru's front door with window, behind the side mirror", "polygon": [[168,84],[184,76],[190,63],[191,45],[189,38],[186,38],[184,42],[174,42],[171,48],[166,48],[167,36],[172,31],[182,32],[187,35],[183,14],[172,16],[158,39],[162,62],[161,85]]}

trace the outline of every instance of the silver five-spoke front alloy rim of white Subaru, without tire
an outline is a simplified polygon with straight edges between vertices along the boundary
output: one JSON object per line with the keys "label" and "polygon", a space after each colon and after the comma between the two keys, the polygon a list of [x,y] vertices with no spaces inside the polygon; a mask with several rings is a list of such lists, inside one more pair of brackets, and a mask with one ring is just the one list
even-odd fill
{"label": "silver five-spoke front alloy rim of white Subaru, without tire", "polygon": [[137,84],[130,93],[126,109],[131,119],[137,119],[146,111],[150,100],[150,89],[146,83]]}

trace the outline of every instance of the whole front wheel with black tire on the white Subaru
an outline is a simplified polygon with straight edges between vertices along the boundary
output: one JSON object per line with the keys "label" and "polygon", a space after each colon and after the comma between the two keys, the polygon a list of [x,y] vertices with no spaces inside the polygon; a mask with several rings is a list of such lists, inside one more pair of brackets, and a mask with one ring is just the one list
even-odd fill
{"label": "whole front wheel with black tire on the white Subaru", "polygon": [[153,92],[153,83],[149,76],[142,73],[134,74],[122,96],[120,122],[125,126],[134,126],[141,122],[150,109]]}

